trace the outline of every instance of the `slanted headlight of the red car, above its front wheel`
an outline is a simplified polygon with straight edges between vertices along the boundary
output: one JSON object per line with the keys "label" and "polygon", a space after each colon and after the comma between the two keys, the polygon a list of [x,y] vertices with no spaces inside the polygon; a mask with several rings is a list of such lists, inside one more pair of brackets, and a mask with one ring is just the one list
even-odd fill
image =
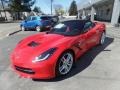
{"label": "slanted headlight of the red car, above its front wheel", "polygon": [[47,60],[56,50],[57,48],[51,48],[46,52],[42,53],[41,55],[35,57],[35,59],[32,62],[35,63],[35,62]]}

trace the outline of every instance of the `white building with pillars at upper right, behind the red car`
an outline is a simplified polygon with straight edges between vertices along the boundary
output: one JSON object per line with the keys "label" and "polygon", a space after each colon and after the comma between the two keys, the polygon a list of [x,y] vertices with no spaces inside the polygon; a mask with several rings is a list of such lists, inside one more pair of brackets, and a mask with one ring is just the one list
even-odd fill
{"label": "white building with pillars at upper right, behind the red car", "polygon": [[97,20],[111,21],[112,25],[120,22],[120,0],[86,0],[85,3],[78,4],[79,16],[94,15]]}

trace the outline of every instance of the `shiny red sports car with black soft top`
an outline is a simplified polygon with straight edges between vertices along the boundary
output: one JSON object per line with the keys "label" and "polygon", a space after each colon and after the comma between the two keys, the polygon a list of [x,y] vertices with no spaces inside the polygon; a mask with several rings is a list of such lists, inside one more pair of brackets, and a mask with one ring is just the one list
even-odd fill
{"label": "shiny red sports car with black soft top", "polygon": [[104,44],[105,25],[84,20],[57,24],[21,40],[11,54],[13,69],[22,77],[50,79],[70,72],[88,49]]}

